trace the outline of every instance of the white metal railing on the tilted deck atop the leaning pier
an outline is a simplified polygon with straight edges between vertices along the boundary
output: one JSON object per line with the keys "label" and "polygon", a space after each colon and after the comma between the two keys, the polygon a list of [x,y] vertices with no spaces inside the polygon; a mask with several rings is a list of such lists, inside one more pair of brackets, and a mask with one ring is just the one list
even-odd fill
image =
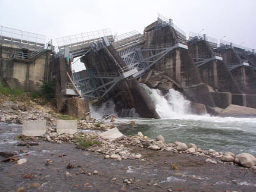
{"label": "white metal railing on the tilted deck atop the leaning pier", "polygon": [[77,46],[77,45],[82,45],[84,43],[88,43],[90,42],[90,40],[94,42],[95,39],[98,40],[99,38],[104,36],[112,36],[111,29],[102,29],[102,30],[96,30],[93,32],[73,34],[70,36],[57,38],[56,41],[59,47],[66,46],[66,45]]}

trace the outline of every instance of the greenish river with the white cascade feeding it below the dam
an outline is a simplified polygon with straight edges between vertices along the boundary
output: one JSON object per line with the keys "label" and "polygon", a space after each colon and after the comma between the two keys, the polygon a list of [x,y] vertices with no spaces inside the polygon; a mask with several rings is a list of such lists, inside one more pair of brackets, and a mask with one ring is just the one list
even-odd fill
{"label": "greenish river with the white cascade feeding it below the dam", "polygon": [[[180,141],[195,143],[201,149],[214,149],[217,152],[247,152],[256,156],[256,118],[211,117],[210,115],[193,115],[189,112],[189,101],[176,90],[169,90],[163,95],[159,90],[142,85],[151,97],[161,119],[138,118],[133,113],[130,118],[117,118],[117,121],[135,121],[135,124],[121,124],[119,130],[125,135],[138,134],[139,131],[155,139],[158,134],[166,142]],[[100,114],[114,113],[114,103],[104,103],[94,109]]]}

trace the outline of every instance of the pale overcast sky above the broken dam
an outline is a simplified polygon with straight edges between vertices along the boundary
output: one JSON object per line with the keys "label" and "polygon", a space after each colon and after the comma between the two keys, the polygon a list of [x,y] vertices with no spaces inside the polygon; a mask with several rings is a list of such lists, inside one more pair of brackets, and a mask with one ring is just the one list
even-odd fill
{"label": "pale overcast sky above the broken dam", "polygon": [[[255,0],[0,0],[0,26],[46,35],[46,42],[108,29],[123,34],[157,20],[157,13],[189,32],[256,48]],[[81,68],[76,65],[76,71]]]}

